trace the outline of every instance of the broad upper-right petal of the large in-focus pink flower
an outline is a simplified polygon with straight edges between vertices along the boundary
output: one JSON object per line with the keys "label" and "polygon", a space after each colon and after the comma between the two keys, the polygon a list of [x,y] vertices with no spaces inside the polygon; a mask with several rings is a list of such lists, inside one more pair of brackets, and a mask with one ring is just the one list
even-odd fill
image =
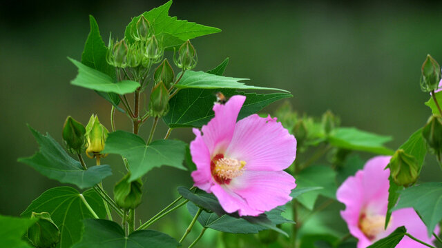
{"label": "broad upper-right petal of the large in-focus pink flower", "polygon": [[253,114],[238,121],[224,156],[245,161],[246,170],[280,171],[293,163],[296,139],[276,118]]}

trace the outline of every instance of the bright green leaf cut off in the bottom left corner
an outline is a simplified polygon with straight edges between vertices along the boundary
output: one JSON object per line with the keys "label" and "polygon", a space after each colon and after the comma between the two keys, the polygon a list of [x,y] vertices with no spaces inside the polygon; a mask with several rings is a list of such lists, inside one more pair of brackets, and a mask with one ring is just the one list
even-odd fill
{"label": "bright green leaf cut off in the bottom left corner", "polygon": [[22,240],[28,227],[33,225],[37,219],[16,218],[10,216],[0,216],[0,240],[1,247],[10,248],[30,248],[26,242]]}

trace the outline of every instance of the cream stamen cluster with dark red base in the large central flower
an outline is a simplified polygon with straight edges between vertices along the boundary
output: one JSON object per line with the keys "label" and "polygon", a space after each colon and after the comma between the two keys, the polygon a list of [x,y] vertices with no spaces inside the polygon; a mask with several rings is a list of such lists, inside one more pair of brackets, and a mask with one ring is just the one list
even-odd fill
{"label": "cream stamen cluster with dark red base in the large central flower", "polygon": [[246,165],[244,161],[224,158],[223,154],[218,154],[211,161],[212,176],[220,184],[229,184],[233,178],[242,175],[244,165]]}

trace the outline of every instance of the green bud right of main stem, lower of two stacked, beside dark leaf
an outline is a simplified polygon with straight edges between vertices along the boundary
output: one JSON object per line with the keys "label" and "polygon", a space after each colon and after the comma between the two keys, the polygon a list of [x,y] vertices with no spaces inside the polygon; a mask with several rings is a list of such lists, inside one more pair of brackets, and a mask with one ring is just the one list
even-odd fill
{"label": "green bud right of main stem, lower of two stacked, beside dark leaf", "polygon": [[155,117],[164,116],[169,110],[169,92],[162,81],[152,89],[149,110],[151,115]]}

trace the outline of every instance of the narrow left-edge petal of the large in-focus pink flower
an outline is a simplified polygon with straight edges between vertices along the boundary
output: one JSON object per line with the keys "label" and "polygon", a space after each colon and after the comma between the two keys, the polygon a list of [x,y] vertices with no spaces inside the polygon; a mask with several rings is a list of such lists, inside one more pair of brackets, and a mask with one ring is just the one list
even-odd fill
{"label": "narrow left-edge petal of the large in-focus pink flower", "polygon": [[207,149],[203,141],[200,130],[194,128],[193,133],[196,135],[196,138],[191,142],[190,148],[196,170],[192,172],[191,176],[196,187],[211,193],[210,187],[213,184],[213,178],[210,171],[211,157],[209,149]]}

